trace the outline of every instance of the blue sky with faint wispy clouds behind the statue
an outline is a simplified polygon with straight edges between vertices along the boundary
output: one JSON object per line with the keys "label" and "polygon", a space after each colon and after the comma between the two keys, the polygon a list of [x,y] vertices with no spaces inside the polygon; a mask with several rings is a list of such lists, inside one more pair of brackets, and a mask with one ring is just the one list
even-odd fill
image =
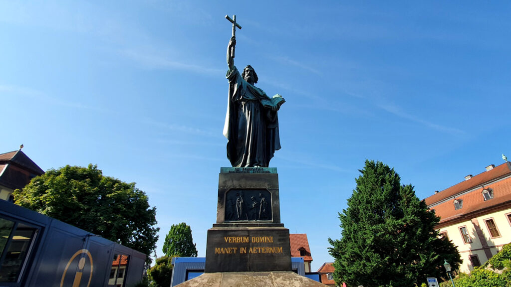
{"label": "blue sky with faint wispy clouds behind the statue", "polygon": [[420,198],[511,156],[511,4],[421,1],[0,1],[0,152],[43,170],[97,164],[157,208],[199,256],[216,219],[225,54],[286,99],[281,218],[332,261],[337,212],[365,159]]}

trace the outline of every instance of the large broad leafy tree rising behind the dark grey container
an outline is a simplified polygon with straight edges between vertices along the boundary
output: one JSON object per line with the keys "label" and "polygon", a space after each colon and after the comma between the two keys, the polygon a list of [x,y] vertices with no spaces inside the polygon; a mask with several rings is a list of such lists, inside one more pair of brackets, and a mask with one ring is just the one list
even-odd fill
{"label": "large broad leafy tree rising behind the dark grey container", "polygon": [[66,165],[14,191],[15,203],[145,254],[156,247],[156,208],[146,194],[96,165]]}

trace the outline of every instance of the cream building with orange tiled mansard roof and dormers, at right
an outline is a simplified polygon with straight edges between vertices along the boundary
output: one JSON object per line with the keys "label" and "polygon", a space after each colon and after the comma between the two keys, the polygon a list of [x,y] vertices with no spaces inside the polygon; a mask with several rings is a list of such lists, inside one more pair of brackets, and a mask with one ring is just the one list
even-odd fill
{"label": "cream building with orange tiled mansard roof and dormers, at right", "polygon": [[425,199],[440,222],[436,226],[457,247],[460,271],[470,272],[511,241],[511,164],[486,171]]}

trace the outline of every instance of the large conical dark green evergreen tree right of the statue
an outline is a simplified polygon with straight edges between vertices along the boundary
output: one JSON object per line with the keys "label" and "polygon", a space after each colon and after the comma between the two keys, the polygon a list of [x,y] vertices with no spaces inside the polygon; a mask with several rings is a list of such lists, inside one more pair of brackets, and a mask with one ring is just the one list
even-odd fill
{"label": "large conical dark green evergreen tree right of the statue", "polygon": [[438,236],[439,218],[411,185],[382,162],[366,160],[357,187],[339,213],[341,239],[329,242],[338,285],[414,286],[440,277],[444,258],[456,269],[456,247]]}

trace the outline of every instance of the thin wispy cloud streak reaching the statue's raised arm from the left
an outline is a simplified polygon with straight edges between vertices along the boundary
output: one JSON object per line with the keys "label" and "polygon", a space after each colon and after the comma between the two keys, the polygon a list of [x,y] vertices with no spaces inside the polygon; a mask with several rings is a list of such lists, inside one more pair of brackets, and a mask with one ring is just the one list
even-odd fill
{"label": "thin wispy cloud streak reaching the statue's raised arm from the left", "polygon": [[123,50],[120,51],[120,54],[149,69],[182,70],[214,77],[221,77],[225,73],[222,69],[173,61],[167,57],[155,56],[141,51]]}

